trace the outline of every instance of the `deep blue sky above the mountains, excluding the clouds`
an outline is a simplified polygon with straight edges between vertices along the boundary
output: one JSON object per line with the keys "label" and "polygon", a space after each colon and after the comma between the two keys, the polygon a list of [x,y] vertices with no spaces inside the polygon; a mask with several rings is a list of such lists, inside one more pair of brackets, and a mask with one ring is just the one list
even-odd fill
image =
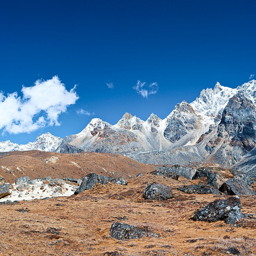
{"label": "deep blue sky above the mountains, excluding the clouds", "polygon": [[[248,82],[256,73],[255,5],[252,1],[3,2],[0,90],[5,96],[18,92],[22,97],[22,85],[58,76],[67,91],[77,84],[79,99],[59,115],[60,125],[46,122],[18,134],[2,128],[0,140],[27,143],[48,131],[64,138],[80,132],[93,117],[115,124],[125,112],[143,120],[151,112],[164,118],[178,102],[195,100],[217,81],[233,88]],[[138,80],[157,83],[157,92],[143,98],[133,89]],[[81,109],[94,115],[77,114]],[[39,116],[46,118],[42,111],[33,121]]]}

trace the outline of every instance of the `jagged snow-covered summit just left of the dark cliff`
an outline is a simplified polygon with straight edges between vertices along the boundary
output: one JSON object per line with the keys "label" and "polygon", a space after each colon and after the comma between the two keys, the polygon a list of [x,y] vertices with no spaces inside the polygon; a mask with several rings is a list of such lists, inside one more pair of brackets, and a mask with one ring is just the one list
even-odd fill
{"label": "jagged snow-covered summit just left of the dark cliff", "polygon": [[203,89],[199,98],[196,98],[190,105],[206,116],[217,116],[218,112],[228,104],[228,99],[236,92],[237,89],[222,86],[217,82],[213,89]]}

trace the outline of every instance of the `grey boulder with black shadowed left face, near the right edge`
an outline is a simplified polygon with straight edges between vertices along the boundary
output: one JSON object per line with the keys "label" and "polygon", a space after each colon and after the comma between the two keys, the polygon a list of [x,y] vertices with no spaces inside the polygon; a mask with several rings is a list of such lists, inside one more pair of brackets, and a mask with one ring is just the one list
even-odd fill
{"label": "grey boulder with black shadowed left face, near the right edge", "polygon": [[229,179],[225,181],[219,190],[227,195],[255,195],[255,191],[243,180]]}

